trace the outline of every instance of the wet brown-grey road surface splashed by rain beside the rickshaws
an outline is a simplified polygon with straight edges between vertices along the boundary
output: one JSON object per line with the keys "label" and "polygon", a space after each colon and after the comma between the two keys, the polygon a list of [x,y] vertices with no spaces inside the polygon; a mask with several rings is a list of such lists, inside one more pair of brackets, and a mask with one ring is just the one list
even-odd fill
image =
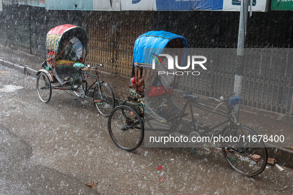
{"label": "wet brown-grey road surface splashed by rain beside the rickshaws", "polygon": [[0,77],[0,89],[23,87],[0,90],[0,194],[293,194],[291,169],[248,178],[214,149],[123,151],[91,98],[53,91],[45,104],[33,77],[3,66]]}

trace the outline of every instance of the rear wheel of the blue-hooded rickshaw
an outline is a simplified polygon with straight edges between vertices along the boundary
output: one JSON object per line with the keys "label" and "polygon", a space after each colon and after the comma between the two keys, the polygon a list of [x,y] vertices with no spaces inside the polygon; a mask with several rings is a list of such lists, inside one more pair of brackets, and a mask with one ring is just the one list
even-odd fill
{"label": "rear wheel of the blue-hooded rickshaw", "polygon": [[142,119],[133,108],[126,105],[119,105],[112,110],[108,131],[116,146],[126,151],[138,148],[144,136]]}

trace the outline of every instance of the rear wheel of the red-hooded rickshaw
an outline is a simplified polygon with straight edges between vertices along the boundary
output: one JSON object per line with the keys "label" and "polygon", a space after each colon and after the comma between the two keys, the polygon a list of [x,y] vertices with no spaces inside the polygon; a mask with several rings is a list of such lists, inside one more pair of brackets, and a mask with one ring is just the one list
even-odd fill
{"label": "rear wheel of the red-hooded rickshaw", "polygon": [[52,96],[52,86],[49,77],[41,72],[37,77],[37,92],[41,101],[47,103]]}

